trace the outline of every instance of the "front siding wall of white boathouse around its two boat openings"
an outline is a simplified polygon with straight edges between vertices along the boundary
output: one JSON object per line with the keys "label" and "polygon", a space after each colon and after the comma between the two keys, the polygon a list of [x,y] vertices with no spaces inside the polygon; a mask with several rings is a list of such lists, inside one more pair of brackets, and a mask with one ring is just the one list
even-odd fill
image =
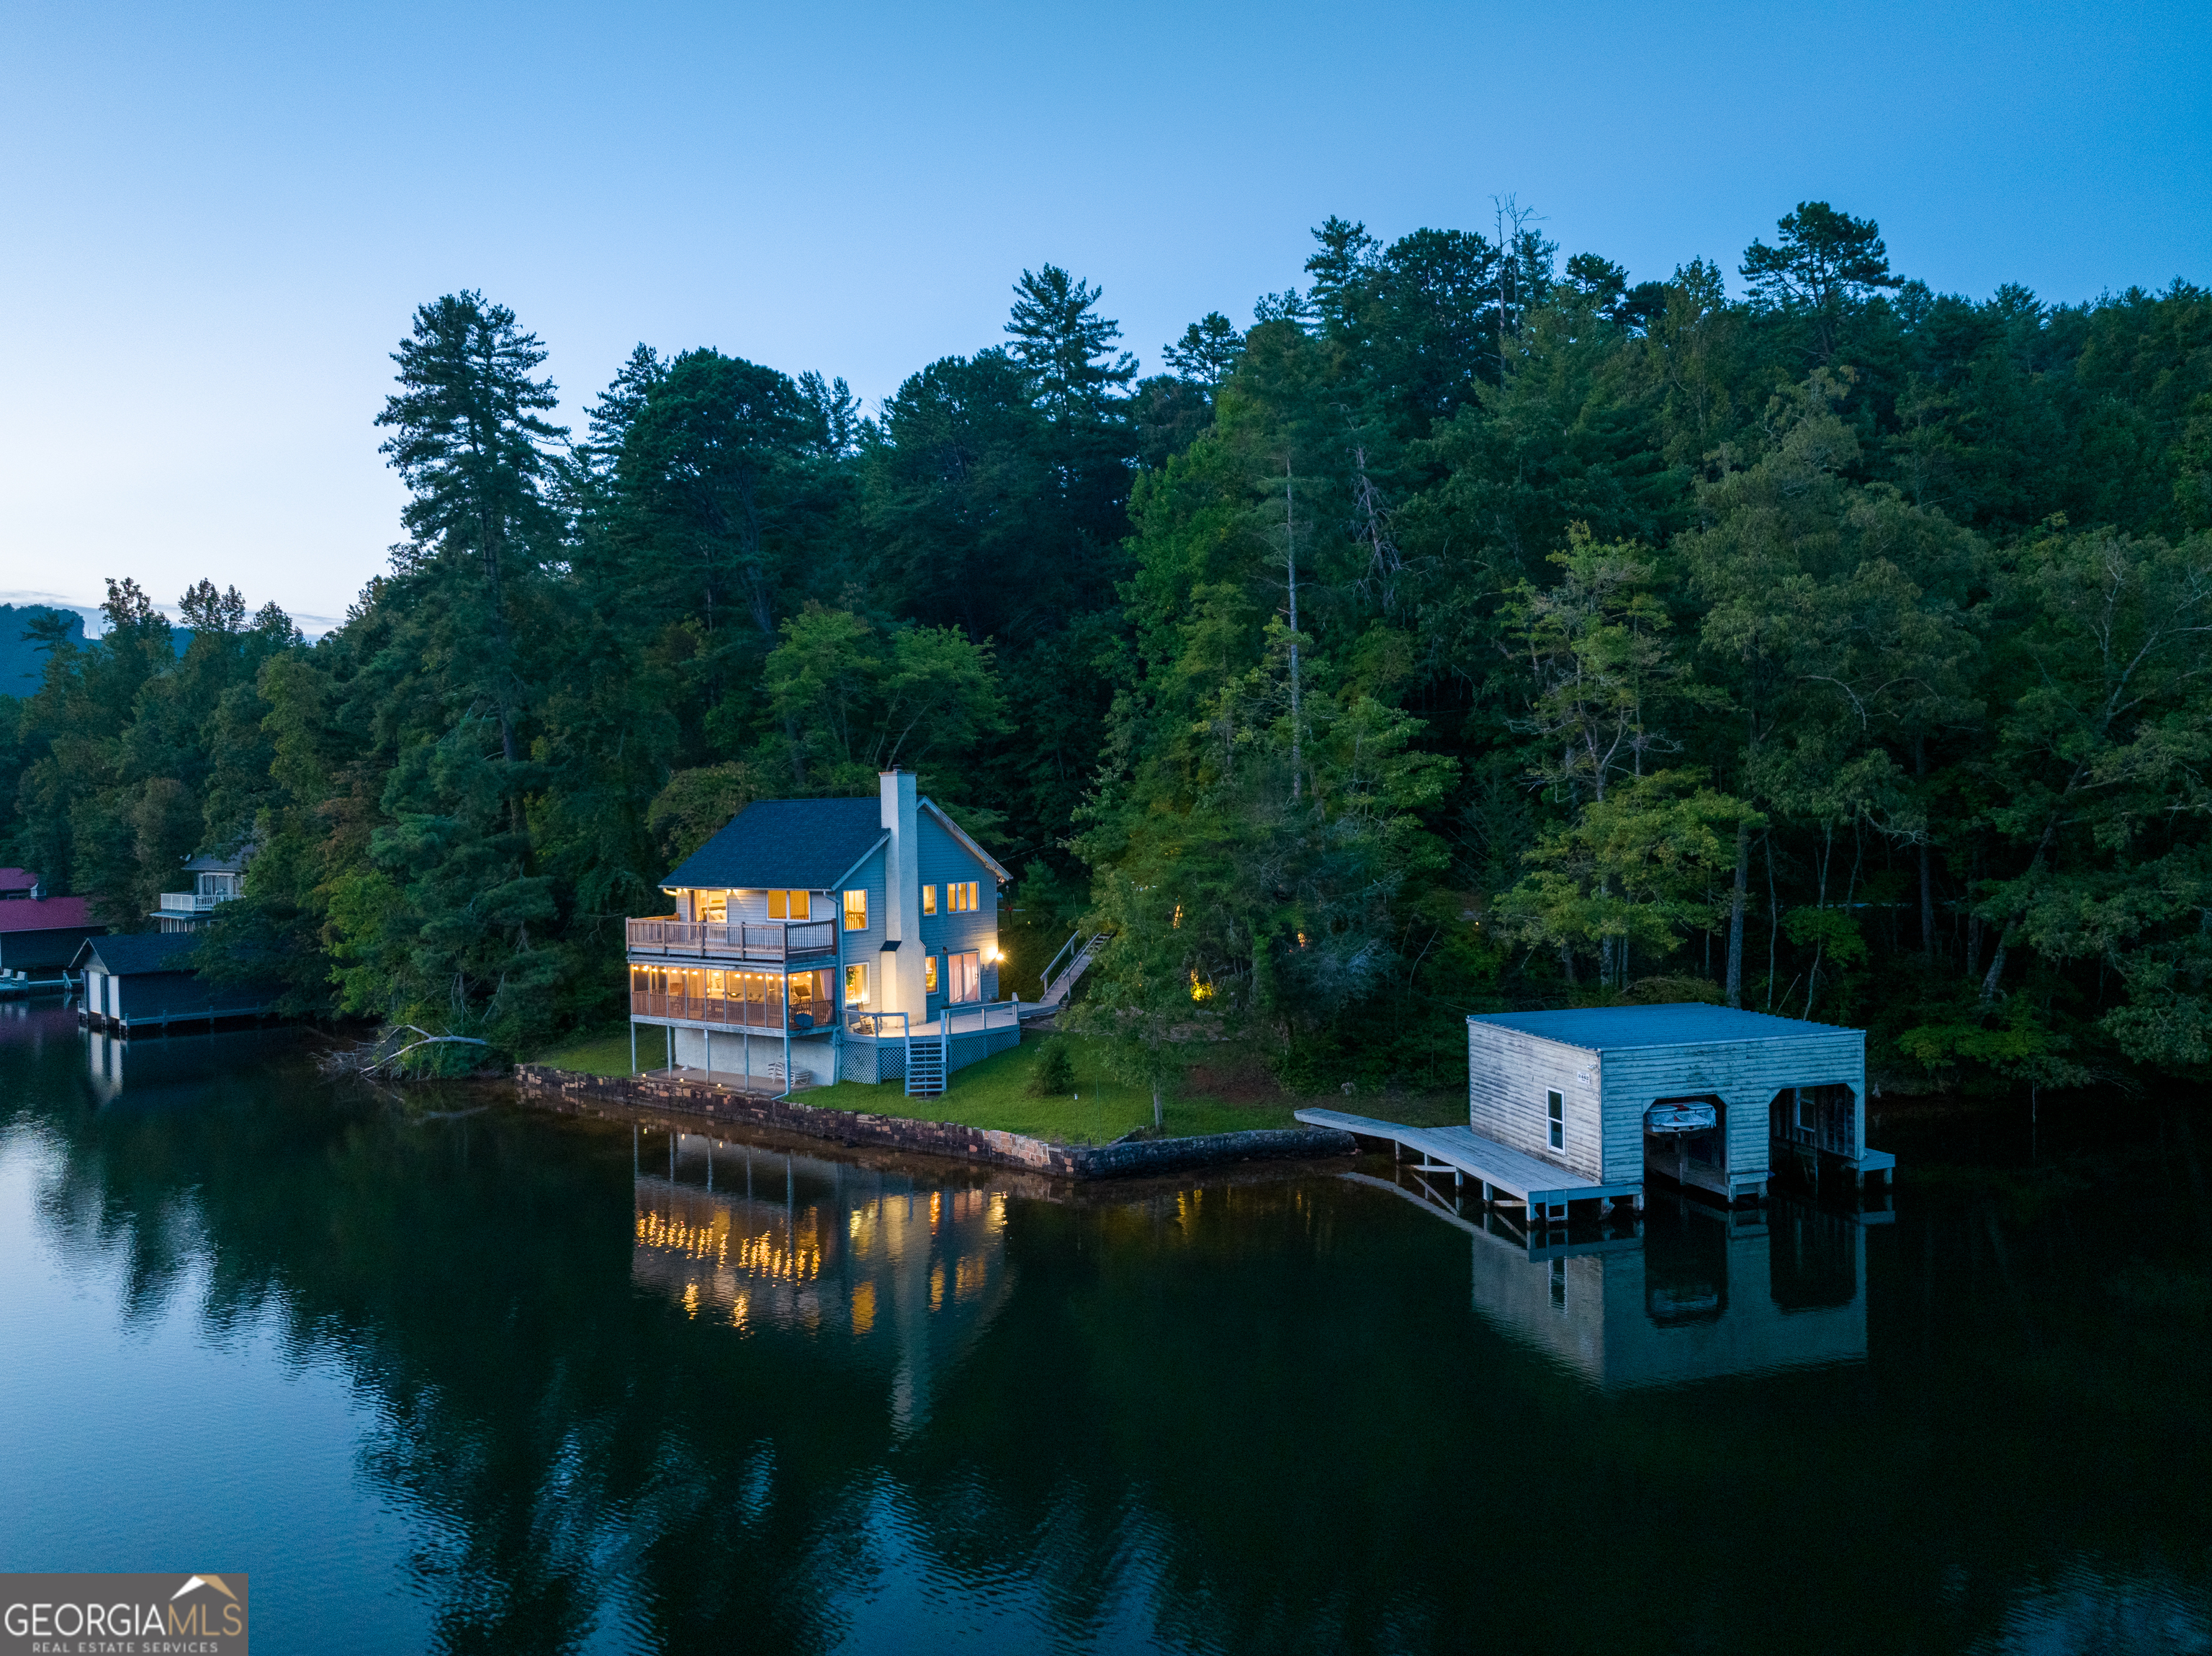
{"label": "front siding wall of white boathouse around its two boat openings", "polygon": [[1613,1147],[1624,1167],[1644,1165],[1644,1112],[1655,1099],[1703,1092],[1728,1105],[1728,1172],[1734,1176],[1772,1172],[1770,1105],[1783,1088],[1851,1088],[1854,1143],[1867,1141],[1867,1037],[1860,1030],[1613,1048],[1597,1061],[1604,1114],[1608,1125],[1619,1123]]}

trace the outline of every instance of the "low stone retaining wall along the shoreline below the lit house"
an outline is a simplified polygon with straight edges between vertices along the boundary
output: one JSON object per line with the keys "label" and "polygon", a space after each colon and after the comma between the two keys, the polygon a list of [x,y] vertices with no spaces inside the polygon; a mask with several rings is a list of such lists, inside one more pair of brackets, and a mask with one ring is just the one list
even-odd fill
{"label": "low stone retaining wall along the shoreline below the lit house", "polygon": [[1210,1167],[1225,1161],[1259,1161],[1281,1156],[1349,1156],[1356,1141],[1334,1128],[1263,1128],[1254,1132],[1214,1132],[1201,1139],[1137,1139],[1110,1145],[1060,1145],[1029,1139],[1020,1132],[989,1132],[951,1121],[909,1121],[860,1110],[816,1110],[794,1099],[759,1092],[734,1092],[703,1081],[668,1081],[648,1075],[577,1075],[546,1063],[518,1063],[515,1090],[529,1097],[557,1097],[580,1103],[611,1103],[648,1110],[677,1110],[734,1125],[779,1128],[807,1139],[832,1139],[845,1145],[885,1145],[918,1150],[953,1161],[987,1161],[1000,1167],[1024,1167],[1053,1178],[1119,1178],[1130,1174],[1170,1172],[1177,1167]]}

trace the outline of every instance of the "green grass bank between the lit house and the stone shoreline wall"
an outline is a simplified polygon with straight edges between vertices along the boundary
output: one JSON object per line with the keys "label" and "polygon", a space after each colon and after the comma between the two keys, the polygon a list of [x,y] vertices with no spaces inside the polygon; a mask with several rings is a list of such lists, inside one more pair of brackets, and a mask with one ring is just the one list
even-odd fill
{"label": "green grass bank between the lit house and the stone shoreline wall", "polygon": [[[1046,1039],[1068,1046],[1075,1070],[1075,1086],[1066,1094],[1033,1099],[1029,1077],[1037,1068],[1037,1052]],[[637,1033],[639,1068],[659,1068],[666,1048],[659,1030]],[[555,1070],[577,1070],[582,1075],[628,1075],[630,1035],[595,1035],[571,1046],[546,1052],[538,1059]],[[1166,1099],[1168,1136],[1201,1132],[1245,1132],[1250,1128],[1294,1128],[1294,1110],[1318,1103],[1332,1110],[1356,1110],[1378,1114],[1409,1125],[1451,1125],[1467,1121],[1467,1101],[1455,1094],[1438,1097],[1389,1097],[1347,1099],[1327,1094],[1298,1099],[1276,1090],[1263,1079],[1256,1066],[1241,1066],[1219,1072],[1194,1066],[1183,1086]],[[1018,1048],[995,1052],[982,1063],[956,1070],[938,1099],[909,1099],[896,1081],[863,1086],[860,1081],[838,1081],[830,1088],[807,1088],[799,1103],[818,1110],[863,1110],[878,1117],[907,1117],[909,1121],[956,1121],[962,1128],[987,1128],[991,1132],[1024,1132],[1033,1139],[1051,1139],[1071,1145],[1110,1143],[1135,1128],[1152,1125],[1152,1094],[1146,1088],[1115,1081],[1106,1072],[1099,1041],[1082,1035],[1040,1037],[1024,1035]]]}

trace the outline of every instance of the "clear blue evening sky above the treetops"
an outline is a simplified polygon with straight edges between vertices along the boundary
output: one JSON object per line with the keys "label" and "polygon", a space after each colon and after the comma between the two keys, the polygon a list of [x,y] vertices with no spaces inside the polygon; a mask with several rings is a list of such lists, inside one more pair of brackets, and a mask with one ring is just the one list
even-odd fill
{"label": "clear blue evening sky above the treetops", "polygon": [[637,340],[872,405],[1057,261],[1152,369],[1329,212],[1544,214],[1637,279],[1798,199],[2053,301],[2212,279],[2201,4],[201,4],[0,11],[0,599],[190,579],[336,617],[369,420],[482,287],[568,418]]}

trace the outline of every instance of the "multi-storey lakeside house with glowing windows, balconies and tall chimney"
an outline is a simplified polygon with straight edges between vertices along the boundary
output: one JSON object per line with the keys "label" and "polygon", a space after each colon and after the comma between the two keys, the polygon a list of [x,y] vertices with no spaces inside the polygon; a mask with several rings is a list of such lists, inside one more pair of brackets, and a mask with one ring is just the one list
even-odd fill
{"label": "multi-storey lakeside house with glowing windows, balconies and tall chimney", "polygon": [[911,772],[876,798],[748,805],[661,882],[675,913],[628,922],[633,1041],[664,1026],[675,1068],[745,1088],[938,1092],[1020,1041],[998,999],[1006,878]]}

